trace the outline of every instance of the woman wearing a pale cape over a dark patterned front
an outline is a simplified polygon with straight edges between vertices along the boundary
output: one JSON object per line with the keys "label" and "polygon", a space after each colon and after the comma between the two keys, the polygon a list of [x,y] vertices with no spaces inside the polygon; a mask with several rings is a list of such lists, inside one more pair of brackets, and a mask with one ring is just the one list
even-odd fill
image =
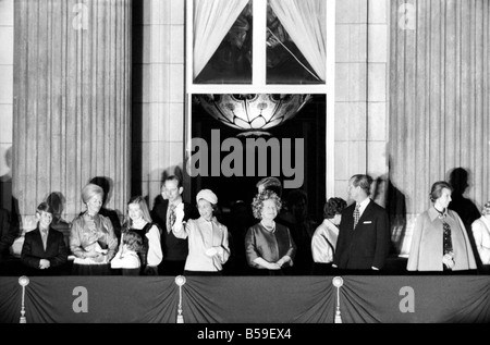
{"label": "woman wearing a pale cape over a dark patterned front", "polygon": [[408,257],[408,271],[464,271],[476,269],[465,226],[456,212],[449,210],[452,187],[436,182],[430,192],[432,206],[415,223]]}

